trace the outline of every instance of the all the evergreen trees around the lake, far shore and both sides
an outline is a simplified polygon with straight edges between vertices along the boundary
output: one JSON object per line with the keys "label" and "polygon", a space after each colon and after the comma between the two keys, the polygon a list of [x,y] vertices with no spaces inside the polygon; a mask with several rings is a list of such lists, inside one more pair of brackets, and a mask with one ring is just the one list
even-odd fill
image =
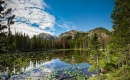
{"label": "all the evergreen trees around the lake, far shore and both sides", "polygon": [[[111,14],[112,31],[99,27],[86,33],[45,40],[34,35],[10,31],[15,15],[10,15],[11,8],[3,12],[0,0],[0,54],[12,52],[44,51],[51,49],[80,49],[90,54],[90,71],[98,69],[96,76],[89,80],[130,80],[130,0],[115,0]],[[7,32],[5,31],[7,29]]]}

